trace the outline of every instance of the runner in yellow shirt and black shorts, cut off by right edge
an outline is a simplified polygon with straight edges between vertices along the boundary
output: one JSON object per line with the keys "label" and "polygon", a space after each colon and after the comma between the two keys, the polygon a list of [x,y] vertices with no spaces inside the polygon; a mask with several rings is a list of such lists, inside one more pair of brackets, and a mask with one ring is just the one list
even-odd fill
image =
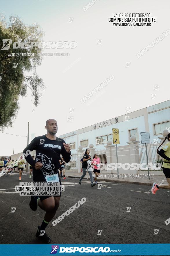
{"label": "runner in yellow shirt and black shorts, cut off by right edge", "polygon": [[[159,147],[166,141],[169,141],[165,144],[162,149],[159,151]],[[168,184],[156,184],[153,183],[152,193],[155,195],[158,189],[170,189],[170,133],[167,134],[162,144],[157,148],[157,154],[159,154],[163,158],[162,171],[167,179]]]}

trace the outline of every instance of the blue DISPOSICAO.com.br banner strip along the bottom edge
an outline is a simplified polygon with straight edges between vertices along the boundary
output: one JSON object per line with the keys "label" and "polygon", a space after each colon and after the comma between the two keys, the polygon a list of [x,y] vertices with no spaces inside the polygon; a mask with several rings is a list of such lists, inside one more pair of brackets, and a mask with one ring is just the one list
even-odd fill
{"label": "blue DISPOSICAO.com.br banner strip along the bottom edge", "polygon": [[0,255],[170,255],[170,244],[1,244]]}

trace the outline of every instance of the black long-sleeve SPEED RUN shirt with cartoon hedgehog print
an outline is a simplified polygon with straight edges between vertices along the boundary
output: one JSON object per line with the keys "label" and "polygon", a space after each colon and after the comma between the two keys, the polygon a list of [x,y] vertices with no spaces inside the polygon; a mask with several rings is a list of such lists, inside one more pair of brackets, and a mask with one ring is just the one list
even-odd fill
{"label": "black long-sleeve SPEED RUN shirt with cartoon hedgehog print", "polygon": [[[31,143],[25,147],[23,153],[27,154],[27,151],[36,150],[35,160],[31,154],[25,156],[27,162],[32,166],[33,169],[33,180],[35,177],[42,177],[45,175],[52,175],[58,173],[60,154],[63,156],[66,163],[71,159],[70,153],[67,153],[61,138],[56,137],[56,140],[50,140],[46,135],[34,138]],[[34,168],[36,162],[41,162],[43,167],[40,170]]]}

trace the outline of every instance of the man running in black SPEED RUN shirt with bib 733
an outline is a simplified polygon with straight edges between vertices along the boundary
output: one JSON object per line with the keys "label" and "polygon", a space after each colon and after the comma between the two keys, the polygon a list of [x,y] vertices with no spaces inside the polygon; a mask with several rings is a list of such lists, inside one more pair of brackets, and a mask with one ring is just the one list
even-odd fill
{"label": "man running in black SPEED RUN shirt with bib 733", "polygon": [[[65,144],[63,139],[60,139],[55,135],[58,130],[57,121],[54,119],[47,120],[45,129],[47,130],[46,135],[34,138],[23,150],[23,153],[25,154],[27,150],[36,150],[35,160],[32,158],[31,154],[25,157],[26,161],[32,166],[34,182],[46,182],[46,175],[57,174],[59,176],[58,169],[60,154],[62,154],[67,163],[71,159],[70,145]],[[61,182],[60,177],[59,181]],[[44,220],[41,226],[38,226],[36,232],[36,237],[41,239],[44,243],[50,243],[51,239],[45,232],[43,236],[40,236],[40,230],[45,230],[54,217],[56,210],[59,207],[60,197],[61,195],[55,197],[50,195],[39,197],[31,196],[30,208],[33,211],[36,211],[38,205],[46,212]]]}

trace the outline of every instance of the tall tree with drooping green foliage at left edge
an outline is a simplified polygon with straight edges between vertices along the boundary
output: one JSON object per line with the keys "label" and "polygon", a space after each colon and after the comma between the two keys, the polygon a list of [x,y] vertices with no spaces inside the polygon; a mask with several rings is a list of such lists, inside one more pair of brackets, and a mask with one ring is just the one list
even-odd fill
{"label": "tall tree with drooping green foliage at left edge", "polygon": [[[36,67],[41,65],[42,49],[13,49],[12,45],[13,42],[41,42],[43,35],[39,24],[25,25],[17,16],[10,16],[10,22],[7,24],[5,18],[0,15],[0,129],[12,126],[19,109],[19,96],[26,96],[28,88],[32,91],[34,106],[39,103],[39,90],[44,85],[36,74]],[[9,48],[7,50],[4,40],[5,46]],[[16,53],[19,56],[15,56]],[[25,56],[22,56],[22,53]],[[29,56],[33,54],[34,56]],[[25,76],[26,72],[32,74]]]}

